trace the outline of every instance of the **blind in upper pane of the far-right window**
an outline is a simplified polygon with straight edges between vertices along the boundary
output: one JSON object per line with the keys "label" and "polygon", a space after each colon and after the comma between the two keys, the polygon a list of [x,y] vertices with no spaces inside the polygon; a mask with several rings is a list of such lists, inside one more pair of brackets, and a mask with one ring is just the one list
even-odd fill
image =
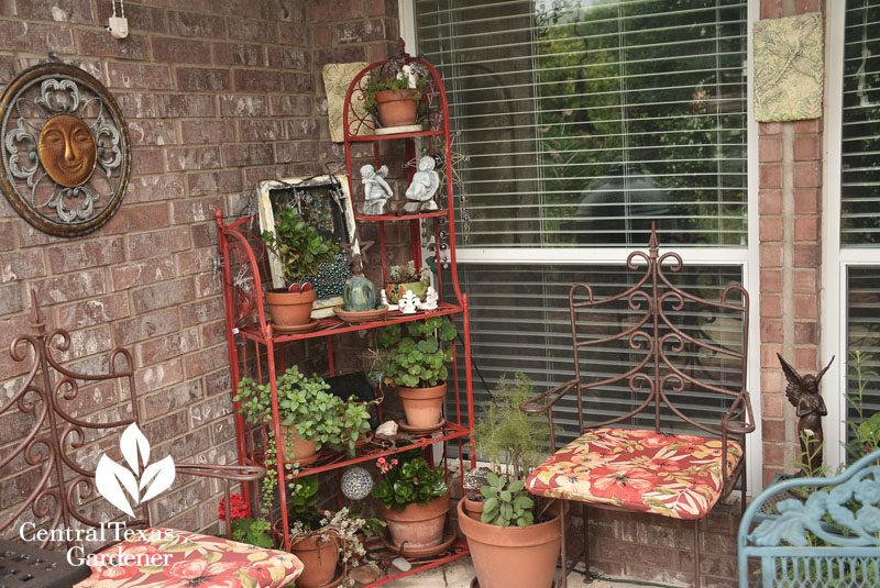
{"label": "blind in upper pane of the far-right window", "polygon": [[880,243],[880,4],[847,0],[840,245]]}

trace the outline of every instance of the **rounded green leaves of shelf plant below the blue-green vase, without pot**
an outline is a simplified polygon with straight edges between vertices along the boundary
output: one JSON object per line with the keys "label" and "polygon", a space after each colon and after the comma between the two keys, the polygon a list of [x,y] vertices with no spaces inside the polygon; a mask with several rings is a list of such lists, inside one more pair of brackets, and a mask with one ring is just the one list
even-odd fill
{"label": "rounded green leaves of shelf plant below the blue-green vase, without pot", "polygon": [[452,360],[452,346],[442,345],[455,339],[455,324],[442,317],[386,326],[377,336],[380,347],[388,350],[385,358],[385,384],[407,388],[431,388],[449,376],[446,363]]}

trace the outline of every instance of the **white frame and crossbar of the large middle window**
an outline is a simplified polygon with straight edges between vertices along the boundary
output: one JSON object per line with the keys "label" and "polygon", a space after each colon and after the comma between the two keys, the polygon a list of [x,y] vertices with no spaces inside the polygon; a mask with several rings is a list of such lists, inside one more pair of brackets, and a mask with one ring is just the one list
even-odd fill
{"label": "white frame and crossbar of the large middle window", "polygon": [[[760,14],[760,0],[748,0],[748,37],[747,37],[747,141],[748,141],[748,178],[747,202],[748,214],[748,242],[746,248],[708,248],[708,247],[680,247],[674,251],[681,255],[686,265],[712,266],[739,266],[745,271],[743,286],[749,292],[749,358],[748,358],[748,387],[755,412],[756,430],[747,436],[747,452],[749,465],[747,471],[746,491],[756,496],[762,487],[763,443],[761,441],[761,337],[760,337],[760,267],[758,249],[758,123],[755,122],[752,112],[754,88],[754,59],[752,59],[752,23]],[[416,46],[416,16],[414,0],[400,0],[399,19],[400,35],[408,47]],[[647,248],[647,243],[645,247]],[[584,263],[594,264],[626,264],[626,257],[634,247],[459,247],[455,259],[460,265],[469,264],[497,264],[510,265],[524,263],[528,265],[576,265]],[[638,248],[638,247],[635,247]],[[664,249],[661,247],[661,254]]]}

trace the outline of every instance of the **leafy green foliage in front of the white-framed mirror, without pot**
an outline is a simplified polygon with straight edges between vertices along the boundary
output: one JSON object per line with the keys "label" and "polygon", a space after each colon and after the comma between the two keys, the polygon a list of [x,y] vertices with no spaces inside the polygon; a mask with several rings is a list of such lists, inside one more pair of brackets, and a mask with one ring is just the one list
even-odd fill
{"label": "leafy green foliage in front of the white-framed mirror, without pot", "polygon": [[318,274],[318,266],[336,262],[339,247],[321,237],[318,230],[304,221],[294,210],[278,214],[275,231],[263,231],[266,248],[278,257],[285,281],[299,284]]}

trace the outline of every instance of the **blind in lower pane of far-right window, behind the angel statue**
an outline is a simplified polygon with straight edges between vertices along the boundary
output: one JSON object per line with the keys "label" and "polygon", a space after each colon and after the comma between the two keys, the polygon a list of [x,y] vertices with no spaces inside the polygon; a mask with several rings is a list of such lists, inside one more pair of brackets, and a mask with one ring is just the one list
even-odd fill
{"label": "blind in lower pane of far-right window, behind the angel statue", "polygon": [[[847,439],[858,425],[880,411],[880,267],[847,268]],[[861,356],[859,392],[856,354]]]}

